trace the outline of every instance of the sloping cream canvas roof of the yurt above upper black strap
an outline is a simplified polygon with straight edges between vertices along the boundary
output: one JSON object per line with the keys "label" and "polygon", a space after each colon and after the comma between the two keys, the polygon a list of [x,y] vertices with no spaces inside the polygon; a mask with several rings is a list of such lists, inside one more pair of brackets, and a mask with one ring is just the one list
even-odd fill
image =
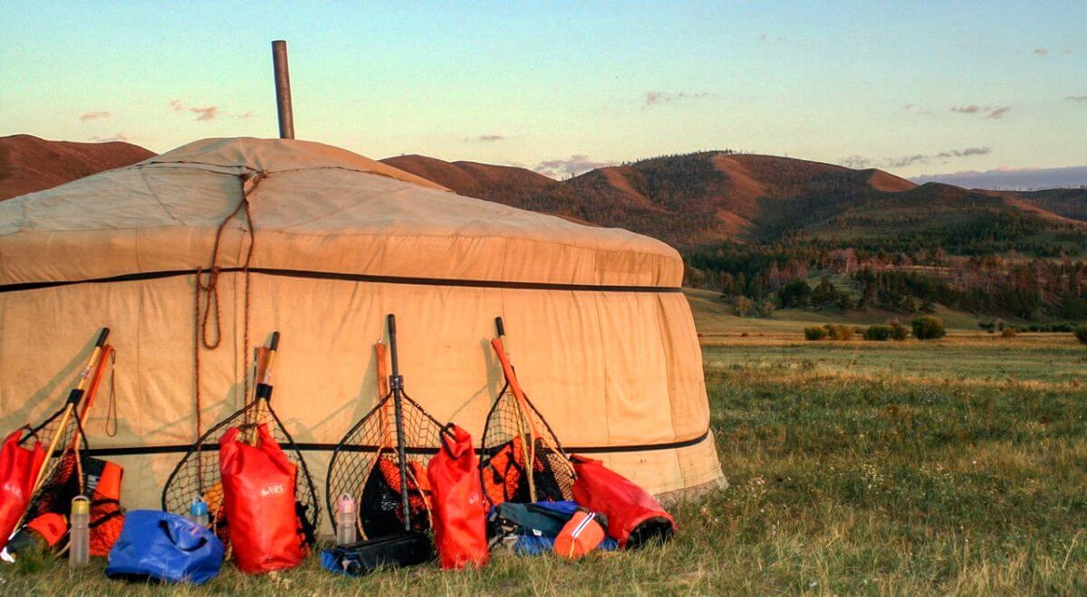
{"label": "sloping cream canvas roof of the yurt above upper black strap", "polygon": [[[0,202],[0,287],[207,268],[243,192],[258,271],[557,289],[674,288],[683,276],[675,250],[627,230],[457,195],[321,143],[229,138]],[[216,266],[245,264],[242,223],[226,220]]]}

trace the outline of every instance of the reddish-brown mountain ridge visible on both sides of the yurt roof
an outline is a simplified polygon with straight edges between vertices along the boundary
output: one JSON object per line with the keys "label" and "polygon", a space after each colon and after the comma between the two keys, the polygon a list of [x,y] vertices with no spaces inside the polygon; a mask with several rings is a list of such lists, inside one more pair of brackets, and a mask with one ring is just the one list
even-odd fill
{"label": "reddish-brown mountain ridge visible on both sides of the yurt roof", "polygon": [[[34,192],[152,155],[130,143],[0,138],[0,199]],[[878,169],[774,155],[708,151],[641,160],[558,181],[533,170],[423,155],[382,162],[454,192],[598,226],[620,227],[680,249],[726,240],[774,242],[801,234],[855,238],[988,233],[1044,238],[1087,226],[1087,190],[979,191],[916,185]],[[1039,241],[1040,242],[1040,241]]]}

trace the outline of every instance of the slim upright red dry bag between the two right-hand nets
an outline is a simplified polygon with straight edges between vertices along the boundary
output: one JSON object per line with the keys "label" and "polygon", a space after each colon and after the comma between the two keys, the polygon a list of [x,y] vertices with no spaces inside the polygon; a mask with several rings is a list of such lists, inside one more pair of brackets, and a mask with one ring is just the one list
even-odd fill
{"label": "slim upright red dry bag between the two right-hand nets", "polygon": [[434,492],[434,544],[441,568],[478,568],[490,560],[479,458],[472,436],[453,423],[446,425],[439,437],[441,449],[426,467]]}

